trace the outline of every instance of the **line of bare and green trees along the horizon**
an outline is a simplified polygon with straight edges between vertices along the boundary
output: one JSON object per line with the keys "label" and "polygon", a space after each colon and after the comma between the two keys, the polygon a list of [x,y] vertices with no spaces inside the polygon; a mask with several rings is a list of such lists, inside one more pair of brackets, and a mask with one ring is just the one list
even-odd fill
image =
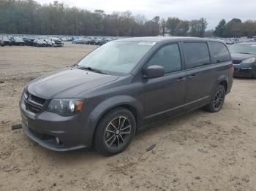
{"label": "line of bare and green trees along the horizon", "polygon": [[206,31],[205,18],[181,20],[155,16],[147,19],[132,12],[106,14],[78,7],[67,7],[58,1],[41,5],[33,0],[0,1],[0,34],[100,35],[100,36],[253,36],[255,21],[221,20],[215,31]]}

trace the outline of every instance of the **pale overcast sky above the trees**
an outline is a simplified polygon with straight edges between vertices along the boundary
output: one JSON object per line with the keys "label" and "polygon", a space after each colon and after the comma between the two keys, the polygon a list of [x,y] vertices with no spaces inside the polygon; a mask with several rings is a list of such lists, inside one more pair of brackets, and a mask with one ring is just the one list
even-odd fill
{"label": "pale overcast sky above the trees", "polygon": [[[54,0],[37,0],[40,4]],[[145,15],[148,19],[159,17],[179,17],[192,20],[205,17],[208,28],[213,29],[224,18],[256,20],[256,0],[59,0],[69,7],[80,7],[94,11],[102,9],[106,13],[113,11],[131,11],[133,15]],[[253,10],[254,9],[254,10]]]}

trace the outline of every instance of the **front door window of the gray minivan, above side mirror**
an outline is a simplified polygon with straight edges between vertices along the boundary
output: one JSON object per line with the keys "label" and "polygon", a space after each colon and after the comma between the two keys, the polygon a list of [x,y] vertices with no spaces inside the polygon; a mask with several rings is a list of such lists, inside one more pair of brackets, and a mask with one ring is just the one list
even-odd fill
{"label": "front door window of the gray minivan, above side mirror", "polygon": [[157,50],[147,63],[147,66],[152,65],[163,66],[165,74],[181,71],[181,54],[178,44],[169,44]]}

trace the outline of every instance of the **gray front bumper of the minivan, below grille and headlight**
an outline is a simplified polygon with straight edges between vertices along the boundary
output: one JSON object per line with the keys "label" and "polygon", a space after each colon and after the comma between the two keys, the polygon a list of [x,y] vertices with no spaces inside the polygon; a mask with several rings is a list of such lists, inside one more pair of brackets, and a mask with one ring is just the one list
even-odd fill
{"label": "gray front bumper of the minivan, below grille and headlight", "polygon": [[[86,122],[74,115],[61,117],[47,111],[34,114],[26,110],[23,96],[20,100],[22,128],[32,140],[42,147],[54,151],[69,151],[91,147],[92,136],[88,133]],[[56,141],[59,139],[59,143]]]}

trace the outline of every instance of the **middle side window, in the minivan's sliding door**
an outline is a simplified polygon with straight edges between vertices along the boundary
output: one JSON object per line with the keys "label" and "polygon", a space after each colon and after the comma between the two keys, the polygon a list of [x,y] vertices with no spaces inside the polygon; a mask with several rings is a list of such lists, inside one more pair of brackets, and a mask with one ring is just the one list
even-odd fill
{"label": "middle side window, in the minivan's sliding door", "polygon": [[185,42],[184,53],[188,69],[210,64],[206,42]]}

